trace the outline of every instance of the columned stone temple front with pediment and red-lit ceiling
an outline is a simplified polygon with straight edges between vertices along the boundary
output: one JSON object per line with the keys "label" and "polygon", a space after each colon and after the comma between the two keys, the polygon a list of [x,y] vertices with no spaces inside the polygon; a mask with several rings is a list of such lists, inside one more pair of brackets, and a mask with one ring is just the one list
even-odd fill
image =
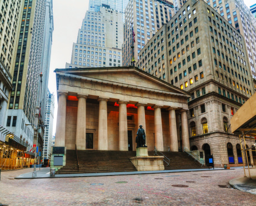
{"label": "columned stone temple front with pediment and red-lit ceiling", "polygon": [[56,146],[78,150],[135,150],[142,124],[148,150],[189,148],[189,94],[134,67],[56,69]]}

